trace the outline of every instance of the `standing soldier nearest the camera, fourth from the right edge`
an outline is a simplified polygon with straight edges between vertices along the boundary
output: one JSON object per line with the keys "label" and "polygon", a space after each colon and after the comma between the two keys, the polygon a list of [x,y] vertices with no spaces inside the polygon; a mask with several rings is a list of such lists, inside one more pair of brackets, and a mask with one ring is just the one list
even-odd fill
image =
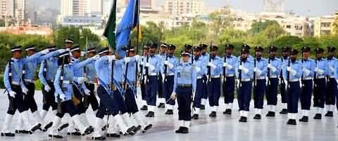
{"label": "standing soldier nearest the camera, fourth from the right edge", "polygon": [[282,67],[285,88],[289,95],[287,100],[287,124],[289,125],[296,125],[299,93],[301,93],[300,79],[303,74],[303,65],[299,60],[296,60],[297,54],[298,51],[292,48],[287,65]]}

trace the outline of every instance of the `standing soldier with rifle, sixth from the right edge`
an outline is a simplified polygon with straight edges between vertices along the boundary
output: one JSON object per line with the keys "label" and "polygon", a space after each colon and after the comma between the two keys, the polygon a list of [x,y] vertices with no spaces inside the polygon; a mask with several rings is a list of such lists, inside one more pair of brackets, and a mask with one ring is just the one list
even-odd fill
{"label": "standing soldier with rifle, sixth from the right edge", "polygon": [[[268,114],[266,116],[275,116],[278,93],[278,77],[282,69],[282,61],[276,58],[277,48],[270,47],[270,58],[268,59],[268,85],[266,89],[266,100],[268,101]],[[283,89],[284,90],[284,89]]]}

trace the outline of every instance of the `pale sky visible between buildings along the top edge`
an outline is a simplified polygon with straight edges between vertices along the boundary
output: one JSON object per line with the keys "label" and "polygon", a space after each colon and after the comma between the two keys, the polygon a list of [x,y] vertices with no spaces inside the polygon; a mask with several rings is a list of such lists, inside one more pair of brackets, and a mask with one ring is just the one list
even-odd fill
{"label": "pale sky visible between buildings along the top edge", "polygon": [[[35,0],[36,4],[56,8],[61,0]],[[155,0],[158,5],[163,4],[165,0]],[[248,12],[263,11],[263,0],[204,0],[206,6],[210,8],[219,8],[227,4],[236,9]],[[284,0],[284,10],[293,11],[297,15],[319,16],[333,15],[338,11],[338,0]],[[59,9],[59,8],[57,8]]]}

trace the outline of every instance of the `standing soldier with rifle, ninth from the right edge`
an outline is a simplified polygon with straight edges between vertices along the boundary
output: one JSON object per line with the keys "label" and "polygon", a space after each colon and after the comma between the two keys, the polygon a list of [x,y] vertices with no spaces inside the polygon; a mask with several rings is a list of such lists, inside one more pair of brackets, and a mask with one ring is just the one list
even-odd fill
{"label": "standing soldier with rifle, ninth from the right edge", "polygon": [[223,61],[223,94],[225,102],[225,112],[223,114],[231,114],[232,103],[234,102],[234,67],[236,67],[237,58],[232,55],[234,46],[232,44],[225,45],[225,57]]}

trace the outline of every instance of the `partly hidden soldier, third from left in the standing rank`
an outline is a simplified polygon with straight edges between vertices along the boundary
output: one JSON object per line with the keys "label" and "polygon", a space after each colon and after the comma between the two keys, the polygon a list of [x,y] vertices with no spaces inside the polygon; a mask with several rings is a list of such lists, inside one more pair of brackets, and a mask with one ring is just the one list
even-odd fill
{"label": "partly hidden soldier, third from left in the standing rank", "polygon": [[[167,43],[161,43],[160,45],[160,53],[158,57],[161,58],[161,68],[163,68],[163,60],[165,60],[165,55],[168,53],[168,45]],[[163,73],[160,71],[158,73],[158,101],[160,104],[158,108],[165,108],[165,92],[163,92]]]}

